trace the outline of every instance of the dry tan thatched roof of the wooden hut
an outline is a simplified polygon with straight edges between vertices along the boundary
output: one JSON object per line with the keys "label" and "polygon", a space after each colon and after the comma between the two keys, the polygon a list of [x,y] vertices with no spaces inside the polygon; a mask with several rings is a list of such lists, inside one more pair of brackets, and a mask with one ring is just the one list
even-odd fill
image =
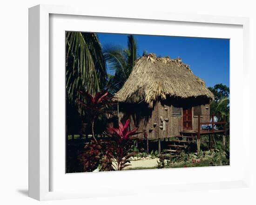
{"label": "dry tan thatched roof of the wooden hut", "polygon": [[157,99],[164,100],[167,96],[214,98],[204,81],[180,58],[157,58],[154,53],[135,61],[128,80],[115,97],[119,102],[145,101],[152,108]]}

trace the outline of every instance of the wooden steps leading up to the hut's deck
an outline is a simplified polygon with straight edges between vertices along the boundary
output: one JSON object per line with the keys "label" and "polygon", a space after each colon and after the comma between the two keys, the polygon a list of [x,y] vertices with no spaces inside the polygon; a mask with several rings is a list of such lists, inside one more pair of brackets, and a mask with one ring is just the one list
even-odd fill
{"label": "wooden steps leading up to the hut's deck", "polygon": [[194,143],[196,140],[194,133],[182,133],[180,136],[176,136],[175,139],[169,141],[166,151],[171,154],[171,158],[180,156],[182,150],[188,149],[190,143]]}

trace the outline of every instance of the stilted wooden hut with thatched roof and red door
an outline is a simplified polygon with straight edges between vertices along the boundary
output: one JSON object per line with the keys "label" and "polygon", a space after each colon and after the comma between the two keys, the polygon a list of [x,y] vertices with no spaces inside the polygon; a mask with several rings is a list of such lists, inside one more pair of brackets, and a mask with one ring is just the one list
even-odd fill
{"label": "stilted wooden hut with thatched roof and red door", "polygon": [[180,58],[157,58],[150,53],[135,61],[115,97],[120,120],[129,118],[131,128],[139,127],[149,139],[156,139],[196,129],[198,115],[209,122],[209,102],[214,95]]}

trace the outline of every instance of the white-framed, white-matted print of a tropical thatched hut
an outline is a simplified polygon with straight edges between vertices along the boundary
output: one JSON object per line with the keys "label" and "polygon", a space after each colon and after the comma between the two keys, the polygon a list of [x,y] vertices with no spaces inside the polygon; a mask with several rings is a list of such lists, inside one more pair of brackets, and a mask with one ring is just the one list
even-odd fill
{"label": "white-framed, white-matted print of a tropical thatched hut", "polygon": [[248,29],[246,18],[30,8],[29,196],[248,186],[249,95],[236,83]]}

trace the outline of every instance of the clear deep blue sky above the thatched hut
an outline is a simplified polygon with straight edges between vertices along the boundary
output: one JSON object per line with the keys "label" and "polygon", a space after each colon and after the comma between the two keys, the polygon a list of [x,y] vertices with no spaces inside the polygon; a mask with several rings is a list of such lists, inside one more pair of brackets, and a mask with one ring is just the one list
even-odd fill
{"label": "clear deep blue sky above the thatched hut", "polygon": [[[127,47],[126,34],[97,33],[101,45]],[[182,58],[193,73],[213,87],[222,83],[229,87],[229,39],[134,35],[139,55],[143,51],[157,56]]]}

